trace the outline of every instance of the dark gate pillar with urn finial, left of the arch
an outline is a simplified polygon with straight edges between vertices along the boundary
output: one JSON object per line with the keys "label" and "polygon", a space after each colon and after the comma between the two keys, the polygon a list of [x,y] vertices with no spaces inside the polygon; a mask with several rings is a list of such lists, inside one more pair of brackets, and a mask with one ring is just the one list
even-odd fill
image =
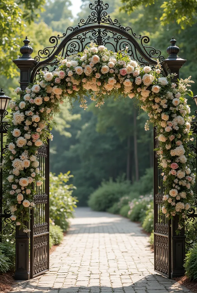
{"label": "dark gate pillar with urn finial, left of the arch", "polygon": [[[31,54],[33,53],[33,48],[30,47],[29,40],[26,39],[23,41],[24,45],[21,47],[20,52],[22,54],[13,62],[20,69],[20,87],[24,91],[30,82],[31,71],[37,64]],[[24,223],[27,227],[29,223]],[[24,233],[23,229],[19,230],[16,226],[16,270],[15,270],[15,279],[16,280],[29,280],[29,233]]]}

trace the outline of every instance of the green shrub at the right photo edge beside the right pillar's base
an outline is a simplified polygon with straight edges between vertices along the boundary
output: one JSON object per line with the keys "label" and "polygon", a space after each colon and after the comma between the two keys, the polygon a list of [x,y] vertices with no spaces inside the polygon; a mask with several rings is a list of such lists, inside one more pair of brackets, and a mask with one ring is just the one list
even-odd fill
{"label": "green shrub at the right photo edge beside the right pillar's base", "polygon": [[197,281],[197,243],[186,254],[185,264],[186,276]]}

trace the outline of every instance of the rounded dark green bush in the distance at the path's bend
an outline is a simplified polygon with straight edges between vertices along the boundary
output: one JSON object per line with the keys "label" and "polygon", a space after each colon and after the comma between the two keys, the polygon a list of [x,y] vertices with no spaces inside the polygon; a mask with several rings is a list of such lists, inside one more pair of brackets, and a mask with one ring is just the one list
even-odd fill
{"label": "rounded dark green bush in the distance at the path's bend", "polygon": [[123,179],[103,181],[90,195],[89,207],[94,211],[106,211],[130,190],[130,186],[130,182]]}

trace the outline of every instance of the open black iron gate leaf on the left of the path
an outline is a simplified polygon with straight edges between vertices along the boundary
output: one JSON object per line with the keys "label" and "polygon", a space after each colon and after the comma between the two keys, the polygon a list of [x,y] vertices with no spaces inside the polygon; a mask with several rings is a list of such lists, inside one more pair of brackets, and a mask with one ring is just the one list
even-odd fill
{"label": "open black iron gate leaf on the left of the path", "polygon": [[45,182],[36,186],[30,220],[30,277],[49,270],[49,140],[38,149],[39,168]]}

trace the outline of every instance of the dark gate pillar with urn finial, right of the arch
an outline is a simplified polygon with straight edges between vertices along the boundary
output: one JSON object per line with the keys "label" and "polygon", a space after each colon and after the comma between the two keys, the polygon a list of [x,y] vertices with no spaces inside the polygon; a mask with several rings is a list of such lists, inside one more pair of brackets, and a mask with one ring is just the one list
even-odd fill
{"label": "dark gate pillar with urn finial, right of the arch", "polygon": [[[172,78],[175,83],[179,79],[179,69],[183,66],[186,60],[178,56],[179,47],[176,46],[176,40],[172,37],[171,45],[167,48],[168,58],[162,62],[162,66],[168,73],[176,73],[177,75]],[[172,271],[171,278],[183,276],[184,259],[185,259],[185,229],[181,229],[180,234],[176,235],[178,229],[179,217],[176,215],[171,221],[171,247],[172,247]]]}

